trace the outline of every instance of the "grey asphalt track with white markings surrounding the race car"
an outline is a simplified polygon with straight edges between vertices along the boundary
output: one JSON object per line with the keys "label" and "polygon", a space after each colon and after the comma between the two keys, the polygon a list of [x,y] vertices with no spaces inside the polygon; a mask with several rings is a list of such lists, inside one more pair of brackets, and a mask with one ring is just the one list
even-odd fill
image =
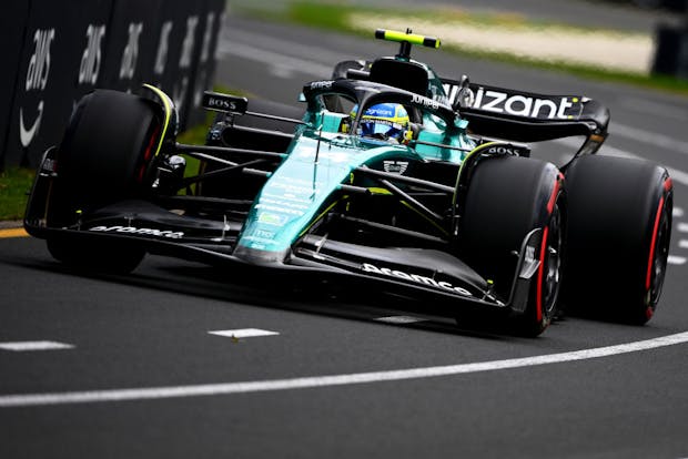
{"label": "grey asphalt track with white markings surrounding the race car", "polygon": [[[333,62],[394,51],[230,18],[217,82],[291,104]],[[688,457],[688,101],[414,55],[447,76],[599,99],[603,153],[670,167],[671,258],[648,325],[567,317],[515,338],[164,257],[131,276],[71,273],[42,241],[1,237],[0,457]]]}

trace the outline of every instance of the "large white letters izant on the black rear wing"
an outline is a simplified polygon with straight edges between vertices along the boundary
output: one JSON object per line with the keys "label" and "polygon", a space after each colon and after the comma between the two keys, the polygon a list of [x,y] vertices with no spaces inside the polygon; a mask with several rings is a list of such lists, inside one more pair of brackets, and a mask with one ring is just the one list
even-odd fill
{"label": "large white letters izant on the black rear wing", "polygon": [[[557,100],[558,99],[558,100]],[[545,120],[571,120],[579,98],[540,99],[533,95],[509,94],[479,88],[475,93],[473,108],[494,113]]]}

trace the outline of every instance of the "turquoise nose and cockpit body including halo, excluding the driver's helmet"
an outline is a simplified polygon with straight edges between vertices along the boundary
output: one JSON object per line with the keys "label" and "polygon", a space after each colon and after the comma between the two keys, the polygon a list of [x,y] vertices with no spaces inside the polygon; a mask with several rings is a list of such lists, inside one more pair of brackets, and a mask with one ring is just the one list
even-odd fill
{"label": "turquoise nose and cockpit body including halo, excluding the driver's helmet", "polygon": [[[303,124],[295,130],[282,164],[256,195],[234,255],[266,263],[284,262],[292,245],[344,197],[342,184],[353,183],[357,167],[385,160],[462,164],[476,146],[466,134],[468,123],[447,104],[439,79],[425,69],[427,96],[347,80],[316,81],[304,86],[302,100],[307,102],[307,110]],[[342,96],[362,111],[352,116],[347,110],[330,111],[324,98],[332,95]],[[382,102],[401,103],[419,113],[417,133],[408,144],[355,134],[365,109]]]}

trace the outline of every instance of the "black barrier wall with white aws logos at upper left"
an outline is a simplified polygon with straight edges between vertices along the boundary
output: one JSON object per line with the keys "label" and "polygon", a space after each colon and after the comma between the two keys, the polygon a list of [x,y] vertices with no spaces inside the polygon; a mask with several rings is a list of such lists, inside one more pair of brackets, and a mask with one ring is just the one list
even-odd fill
{"label": "black barrier wall with white aws logos at upper left", "polygon": [[[36,167],[73,106],[95,88],[160,86],[182,128],[203,120],[225,0],[9,0],[0,16],[9,71],[0,93],[0,169]],[[115,120],[113,120],[115,122]]]}

